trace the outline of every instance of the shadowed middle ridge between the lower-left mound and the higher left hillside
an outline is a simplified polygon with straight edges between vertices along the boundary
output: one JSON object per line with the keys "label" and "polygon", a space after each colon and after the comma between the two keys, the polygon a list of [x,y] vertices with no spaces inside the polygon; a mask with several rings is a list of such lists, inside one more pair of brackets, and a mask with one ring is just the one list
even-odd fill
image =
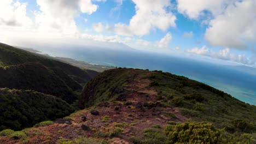
{"label": "shadowed middle ridge between the lower-left mound and the higher left hillside", "polygon": [[[32,89],[55,95],[68,103],[72,103],[77,97],[59,76],[40,63],[24,63],[4,68],[0,67],[0,87]],[[78,83],[70,81],[69,85],[72,84],[77,85],[79,88],[81,87]]]}

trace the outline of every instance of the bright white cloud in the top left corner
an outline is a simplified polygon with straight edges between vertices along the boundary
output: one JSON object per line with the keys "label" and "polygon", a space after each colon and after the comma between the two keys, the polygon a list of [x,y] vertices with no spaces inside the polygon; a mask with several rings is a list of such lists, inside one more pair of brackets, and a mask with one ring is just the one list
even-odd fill
{"label": "bright white cloud in the top left corner", "polygon": [[32,20],[26,16],[26,7],[26,3],[19,1],[1,0],[0,26],[32,26]]}

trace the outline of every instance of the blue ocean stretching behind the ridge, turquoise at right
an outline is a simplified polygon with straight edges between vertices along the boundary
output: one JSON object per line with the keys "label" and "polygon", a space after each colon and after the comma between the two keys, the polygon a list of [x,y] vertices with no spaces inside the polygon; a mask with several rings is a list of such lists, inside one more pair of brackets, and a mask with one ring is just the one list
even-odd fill
{"label": "blue ocean stretching behind the ridge, turquoise at right", "polygon": [[234,69],[232,65],[136,50],[86,49],[81,47],[62,49],[61,52],[57,49],[44,49],[43,51],[53,56],[69,57],[92,64],[162,70],[183,75],[220,89],[248,104],[256,105],[256,71],[255,73],[248,73]]}

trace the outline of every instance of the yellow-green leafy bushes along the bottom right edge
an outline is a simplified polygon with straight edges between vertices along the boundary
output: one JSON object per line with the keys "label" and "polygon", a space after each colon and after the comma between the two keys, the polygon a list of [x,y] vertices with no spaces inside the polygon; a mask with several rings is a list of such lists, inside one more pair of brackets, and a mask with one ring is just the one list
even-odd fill
{"label": "yellow-green leafy bushes along the bottom right edge", "polygon": [[179,144],[179,143],[254,143],[256,134],[232,135],[212,123],[185,122],[173,125],[153,125],[144,129],[142,137],[131,137],[135,144]]}

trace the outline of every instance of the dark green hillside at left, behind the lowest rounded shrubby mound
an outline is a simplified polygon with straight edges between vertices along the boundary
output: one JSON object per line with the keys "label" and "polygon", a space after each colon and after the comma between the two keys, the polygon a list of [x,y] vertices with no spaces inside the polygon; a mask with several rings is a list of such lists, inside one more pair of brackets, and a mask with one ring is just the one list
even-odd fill
{"label": "dark green hillside at left, behind the lowest rounded shrubby mound", "polygon": [[0,44],[0,87],[32,89],[73,103],[98,72]]}

